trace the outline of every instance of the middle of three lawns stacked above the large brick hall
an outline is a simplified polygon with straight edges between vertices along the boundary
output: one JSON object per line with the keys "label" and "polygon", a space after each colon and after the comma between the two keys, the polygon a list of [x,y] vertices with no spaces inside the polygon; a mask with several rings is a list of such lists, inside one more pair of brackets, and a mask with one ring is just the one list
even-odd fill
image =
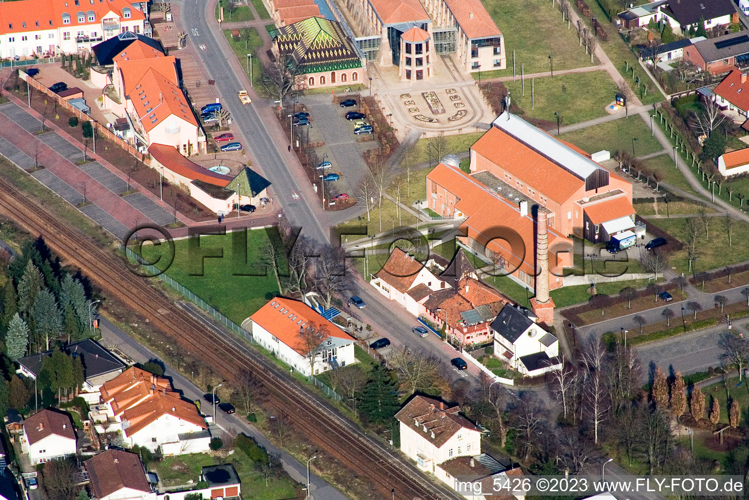
{"label": "middle of three lawns stacked above the large brick hall", "polygon": [[525,79],[525,95],[519,78],[505,85],[510,90],[512,102],[523,109],[524,117],[556,123],[554,112],[559,112],[562,126],[606,115],[606,106],[616,97],[616,84],[605,71],[536,78],[533,109],[530,79]]}

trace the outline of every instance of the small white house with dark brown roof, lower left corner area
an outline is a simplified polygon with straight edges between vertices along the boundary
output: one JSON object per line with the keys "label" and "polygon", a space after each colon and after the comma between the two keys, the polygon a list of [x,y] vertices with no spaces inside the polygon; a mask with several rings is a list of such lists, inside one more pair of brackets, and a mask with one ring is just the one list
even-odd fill
{"label": "small white house with dark brown roof, lower left corner area", "polygon": [[21,451],[36,465],[76,454],[76,432],[67,413],[43,409],[23,421]]}

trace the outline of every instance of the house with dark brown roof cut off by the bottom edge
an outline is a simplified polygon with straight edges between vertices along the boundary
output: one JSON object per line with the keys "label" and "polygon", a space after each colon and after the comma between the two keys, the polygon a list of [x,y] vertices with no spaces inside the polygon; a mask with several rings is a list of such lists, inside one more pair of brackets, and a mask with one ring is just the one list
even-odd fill
{"label": "house with dark brown roof cut off by the bottom edge", "polygon": [[83,463],[97,500],[156,500],[138,454],[108,450]]}

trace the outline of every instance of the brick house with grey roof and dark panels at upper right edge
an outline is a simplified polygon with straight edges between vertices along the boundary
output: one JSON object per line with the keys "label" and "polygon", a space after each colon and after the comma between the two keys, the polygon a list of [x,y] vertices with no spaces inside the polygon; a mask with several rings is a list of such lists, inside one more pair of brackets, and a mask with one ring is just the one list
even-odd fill
{"label": "brick house with grey roof and dark panels at upper right edge", "polygon": [[695,42],[684,49],[684,58],[714,75],[741,69],[749,65],[749,35],[737,31]]}

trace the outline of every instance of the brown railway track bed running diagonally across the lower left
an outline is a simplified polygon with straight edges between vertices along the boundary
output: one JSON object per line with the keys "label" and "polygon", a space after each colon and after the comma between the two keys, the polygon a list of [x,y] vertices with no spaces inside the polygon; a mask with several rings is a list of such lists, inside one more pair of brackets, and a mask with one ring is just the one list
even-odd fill
{"label": "brown railway track bed running diagonally across the lower left", "polygon": [[[410,463],[331,412],[324,401],[303,391],[262,355],[175,305],[147,279],[133,274],[121,260],[61,223],[4,179],[0,179],[0,212],[31,234],[42,235],[63,259],[78,265],[107,294],[147,318],[167,336],[175,337],[181,345],[201,352],[205,361],[218,367],[228,379],[242,370],[252,371],[267,388],[272,406],[285,412],[308,439],[372,481],[381,498],[390,498],[391,490],[395,490],[398,499],[461,498],[427,478],[419,478]],[[19,219],[18,214],[24,217]]]}

